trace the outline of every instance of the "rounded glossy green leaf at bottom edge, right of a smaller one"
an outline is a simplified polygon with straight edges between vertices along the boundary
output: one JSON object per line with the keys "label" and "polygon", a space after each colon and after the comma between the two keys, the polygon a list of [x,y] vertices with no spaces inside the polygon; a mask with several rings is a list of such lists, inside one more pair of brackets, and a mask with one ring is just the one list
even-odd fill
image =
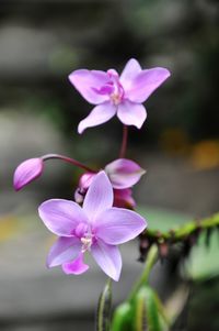
{"label": "rounded glossy green leaf at bottom edge, right of a smaller one", "polygon": [[154,291],[149,286],[140,288],[135,300],[135,331],[161,331]]}

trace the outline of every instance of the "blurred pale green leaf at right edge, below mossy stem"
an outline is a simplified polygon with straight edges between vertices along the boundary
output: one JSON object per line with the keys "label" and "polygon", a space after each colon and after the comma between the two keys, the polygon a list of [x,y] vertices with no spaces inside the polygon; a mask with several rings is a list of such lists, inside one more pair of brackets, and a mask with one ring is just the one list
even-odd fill
{"label": "blurred pale green leaf at right edge, below mossy stem", "polygon": [[186,278],[201,280],[219,275],[219,238],[217,230],[212,232],[209,239],[209,245],[206,245],[206,234],[203,233],[198,244],[194,245],[189,257],[182,266],[182,273]]}

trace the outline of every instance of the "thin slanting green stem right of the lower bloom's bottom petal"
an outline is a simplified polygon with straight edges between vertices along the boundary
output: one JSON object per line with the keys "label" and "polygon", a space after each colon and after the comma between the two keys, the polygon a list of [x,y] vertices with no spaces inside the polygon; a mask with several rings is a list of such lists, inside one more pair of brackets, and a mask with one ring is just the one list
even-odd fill
{"label": "thin slanting green stem right of the lower bloom's bottom petal", "polygon": [[147,260],[146,260],[146,266],[145,269],[140,276],[140,278],[137,280],[137,283],[134,285],[134,288],[130,291],[129,301],[132,301],[135,298],[135,295],[137,294],[138,289],[148,283],[148,278],[151,272],[151,268],[158,261],[158,246],[152,245],[148,252]]}

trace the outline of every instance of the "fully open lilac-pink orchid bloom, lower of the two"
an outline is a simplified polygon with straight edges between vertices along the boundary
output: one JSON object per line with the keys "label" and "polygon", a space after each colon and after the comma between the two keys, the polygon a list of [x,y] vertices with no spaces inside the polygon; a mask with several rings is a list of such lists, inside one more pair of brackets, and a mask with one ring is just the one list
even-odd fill
{"label": "fully open lilac-pink orchid bloom, lower of the two", "polygon": [[48,267],[61,265],[66,274],[80,275],[89,268],[83,257],[90,252],[103,272],[118,280],[122,257],[117,245],[136,238],[147,223],[138,213],[112,206],[113,188],[103,170],[92,180],[83,208],[62,199],[42,203],[41,219],[59,236],[48,254]]}

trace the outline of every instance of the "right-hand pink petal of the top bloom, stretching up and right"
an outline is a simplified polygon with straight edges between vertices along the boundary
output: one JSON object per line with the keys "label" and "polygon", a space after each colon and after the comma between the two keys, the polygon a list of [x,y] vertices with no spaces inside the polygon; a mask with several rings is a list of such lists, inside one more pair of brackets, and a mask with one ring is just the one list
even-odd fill
{"label": "right-hand pink petal of the top bloom, stretching up and right", "polygon": [[126,98],[137,103],[145,102],[170,75],[168,69],[159,67],[142,70],[134,78],[132,84],[126,88]]}

